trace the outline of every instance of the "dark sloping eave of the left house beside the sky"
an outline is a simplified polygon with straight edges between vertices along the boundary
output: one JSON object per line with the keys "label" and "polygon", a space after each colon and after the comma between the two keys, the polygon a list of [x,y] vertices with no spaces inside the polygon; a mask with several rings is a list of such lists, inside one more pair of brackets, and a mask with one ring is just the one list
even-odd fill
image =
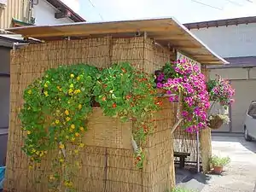
{"label": "dark sloping eave of the left house beside the sky", "polygon": [[52,6],[55,7],[55,9],[59,9],[59,10],[67,10],[71,13],[71,16],[69,17],[71,20],[73,20],[74,22],[84,22],[86,20],[84,20],[83,17],[81,17],[80,15],[78,15],[77,13],[75,13],[73,11],[73,9],[71,9],[70,7],[68,7],[65,3],[62,3],[61,0],[46,0],[48,3],[50,3]]}

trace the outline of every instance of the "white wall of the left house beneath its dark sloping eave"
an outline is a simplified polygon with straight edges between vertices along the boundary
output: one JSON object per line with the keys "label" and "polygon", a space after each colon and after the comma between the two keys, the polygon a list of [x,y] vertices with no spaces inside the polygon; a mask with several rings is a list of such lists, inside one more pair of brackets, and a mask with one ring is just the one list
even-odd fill
{"label": "white wall of the left house beneath its dark sloping eave", "polygon": [[38,5],[34,5],[33,17],[36,18],[36,25],[73,23],[69,18],[55,19],[57,9],[44,0],[39,0]]}

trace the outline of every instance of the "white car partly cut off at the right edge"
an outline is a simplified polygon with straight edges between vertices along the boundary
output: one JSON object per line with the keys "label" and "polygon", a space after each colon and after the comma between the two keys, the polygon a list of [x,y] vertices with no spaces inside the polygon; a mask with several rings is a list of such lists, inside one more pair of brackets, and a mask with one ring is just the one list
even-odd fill
{"label": "white car partly cut off at the right edge", "polygon": [[244,121],[244,138],[250,142],[256,139],[256,101],[251,102]]}

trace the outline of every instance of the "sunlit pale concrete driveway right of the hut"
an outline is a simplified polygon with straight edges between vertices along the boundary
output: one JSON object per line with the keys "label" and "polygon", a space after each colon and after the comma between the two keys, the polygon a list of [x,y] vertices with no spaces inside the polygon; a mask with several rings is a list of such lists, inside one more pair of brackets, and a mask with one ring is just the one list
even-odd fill
{"label": "sunlit pale concrete driveway right of the hut", "polygon": [[256,142],[243,137],[212,137],[212,154],[230,156],[223,176],[212,175],[202,192],[256,192]]}

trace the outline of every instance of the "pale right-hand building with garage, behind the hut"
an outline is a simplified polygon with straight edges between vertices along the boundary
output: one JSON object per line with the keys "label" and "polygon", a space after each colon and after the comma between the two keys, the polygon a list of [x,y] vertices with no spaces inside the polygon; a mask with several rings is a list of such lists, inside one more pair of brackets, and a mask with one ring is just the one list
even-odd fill
{"label": "pale right-hand building with garage, behind the hut", "polygon": [[243,120],[251,101],[256,100],[256,16],[229,20],[211,20],[184,24],[215,53],[230,64],[211,66],[215,74],[230,79],[236,89],[235,103],[230,106],[230,125],[218,131],[243,132]]}

